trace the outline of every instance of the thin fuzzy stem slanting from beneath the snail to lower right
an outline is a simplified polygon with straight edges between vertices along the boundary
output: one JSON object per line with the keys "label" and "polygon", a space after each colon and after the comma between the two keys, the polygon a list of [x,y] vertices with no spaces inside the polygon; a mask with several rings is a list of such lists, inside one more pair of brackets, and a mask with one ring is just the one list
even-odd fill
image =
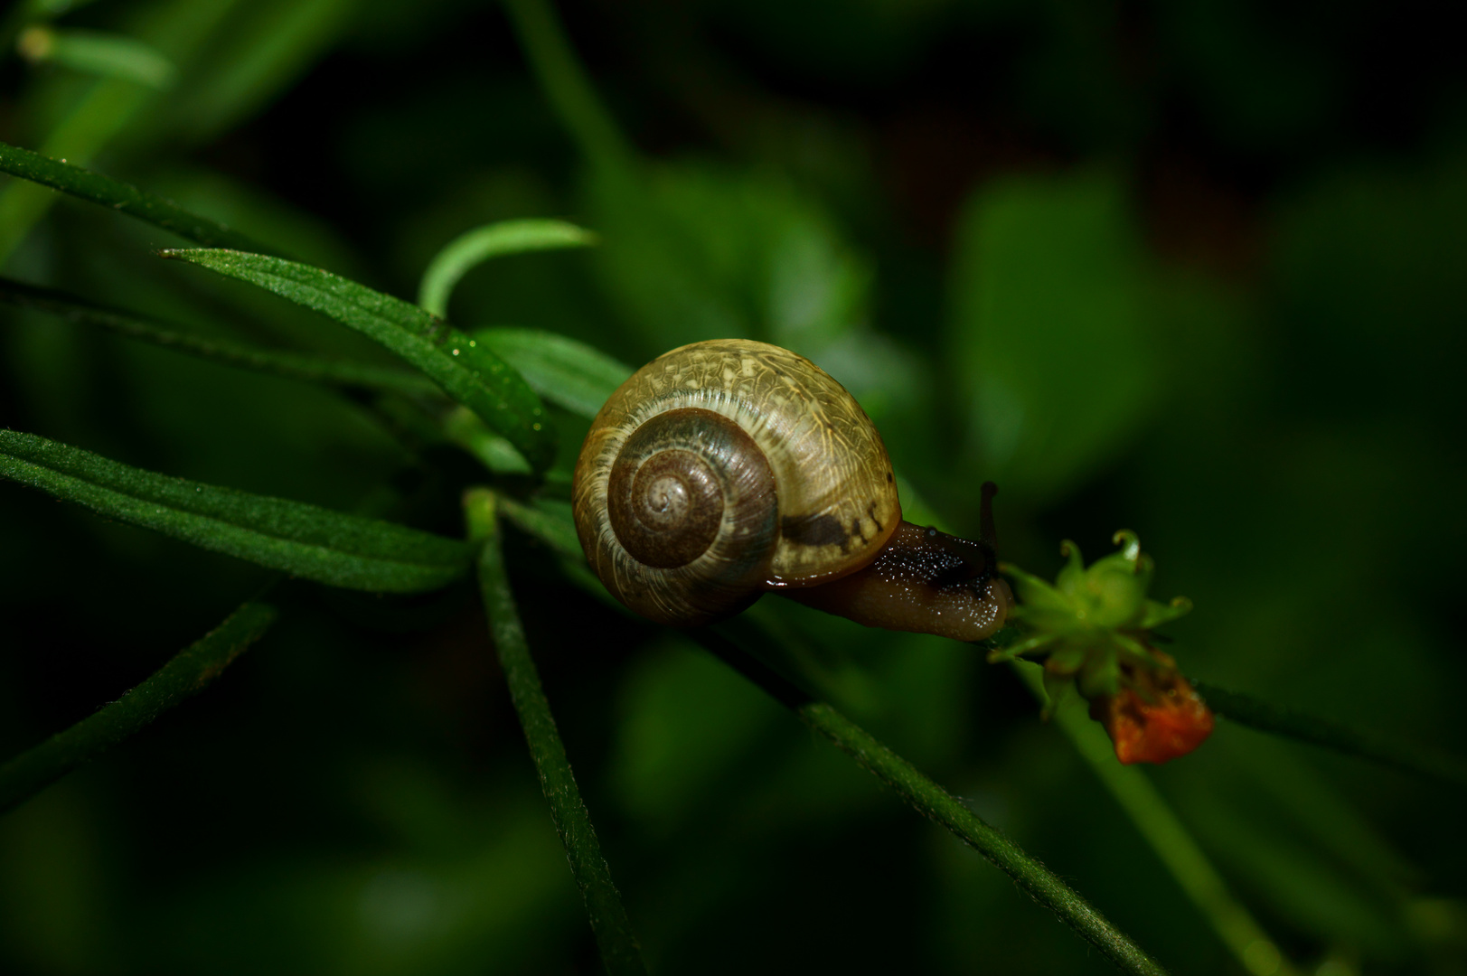
{"label": "thin fuzzy stem slanting from beneath the snail to lower right", "polygon": [[691,631],[689,636],[776,700],[791,707],[810,728],[829,738],[841,751],[855,759],[863,769],[895,790],[914,810],[946,828],[986,857],[1027,891],[1034,901],[1053,911],[1061,922],[1100,950],[1118,969],[1149,975],[1166,972],[1160,963],[1116,929],[1080,892],[851,719],[824,702],[811,700],[791,681],[716,630],[701,628]]}

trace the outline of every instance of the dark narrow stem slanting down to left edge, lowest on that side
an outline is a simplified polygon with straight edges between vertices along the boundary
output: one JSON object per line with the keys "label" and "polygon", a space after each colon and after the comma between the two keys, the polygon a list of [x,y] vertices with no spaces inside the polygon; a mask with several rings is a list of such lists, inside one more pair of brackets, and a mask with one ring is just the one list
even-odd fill
{"label": "dark narrow stem slanting down to left edge, lowest on that side", "polygon": [[0,813],[23,803],[48,784],[82,766],[163,712],[202,691],[276,621],[277,611],[260,599],[245,602],[223,624],[173,656],[153,677],[35,749],[0,766]]}

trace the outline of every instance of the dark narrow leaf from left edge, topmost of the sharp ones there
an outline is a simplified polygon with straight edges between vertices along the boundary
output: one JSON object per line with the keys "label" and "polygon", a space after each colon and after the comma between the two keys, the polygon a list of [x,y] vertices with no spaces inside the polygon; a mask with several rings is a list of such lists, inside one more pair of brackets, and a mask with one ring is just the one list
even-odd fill
{"label": "dark narrow leaf from left edge, topmost of the sharp ones there", "polygon": [[138,189],[120,179],[47,159],[31,150],[22,150],[18,145],[0,142],[0,172],[89,200],[103,207],[111,207],[204,247],[273,251],[273,248],[257,244],[238,230],[230,230],[217,220],[189,213],[163,197]]}

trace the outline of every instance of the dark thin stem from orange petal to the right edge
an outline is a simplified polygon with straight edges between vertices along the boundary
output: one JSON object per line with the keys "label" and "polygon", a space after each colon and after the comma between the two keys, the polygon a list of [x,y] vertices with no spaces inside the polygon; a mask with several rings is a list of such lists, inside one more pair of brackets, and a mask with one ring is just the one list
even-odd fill
{"label": "dark thin stem from orange petal to the right edge", "polygon": [[1193,687],[1206,699],[1207,707],[1238,725],[1273,735],[1287,735],[1301,743],[1323,746],[1347,756],[1360,756],[1422,776],[1467,785],[1467,762],[1438,749],[1354,729],[1339,722],[1260,702],[1251,694],[1225,691],[1200,681],[1194,681]]}

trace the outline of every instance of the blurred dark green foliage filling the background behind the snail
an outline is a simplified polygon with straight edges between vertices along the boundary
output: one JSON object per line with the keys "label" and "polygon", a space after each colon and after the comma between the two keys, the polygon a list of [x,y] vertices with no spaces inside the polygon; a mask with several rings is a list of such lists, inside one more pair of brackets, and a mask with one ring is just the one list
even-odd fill
{"label": "blurred dark green foliage filling the background behind the snail", "polygon": [[[915,499],[1052,575],[1137,530],[1184,671],[1467,751],[1467,72],[1446,4],[587,0],[571,40],[635,164],[584,154],[467,0],[95,0],[0,15],[0,138],[402,298],[458,235],[465,332],[628,364],[811,357]],[[16,51],[126,40],[166,88]],[[144,45],[144,47],[138,47]],[[34,54],[34,48],[32,48]],[[156,63],[154,63],[156,66]],[[94,72],[94,73],[89,73]],[[603,147],[604,148],[604,147]],[[158,261],[176,239],[0,183],[3,273],[201,336],[390,364]],[[468,461],[362,401],[0,310],[0,424],[461,534]],[[556,411],[557,467],[584,421]],[[657,972],[1108,972],[952,837],[685,640],[511,536],[566,749]],[[0,484],[0,753],[138,684],[263,578]],[[0,820],[0,969],[597,972],[468,587],[293,584],[207,694]],[[1237,972],[1025,688],[970,647],[761,605],[836,703],[1177,973]],[[1304,972],[1467,970],[1461,791],[1222,722],[1149,778]],[[1260,966],[1262,969],[1266,969]]]}

